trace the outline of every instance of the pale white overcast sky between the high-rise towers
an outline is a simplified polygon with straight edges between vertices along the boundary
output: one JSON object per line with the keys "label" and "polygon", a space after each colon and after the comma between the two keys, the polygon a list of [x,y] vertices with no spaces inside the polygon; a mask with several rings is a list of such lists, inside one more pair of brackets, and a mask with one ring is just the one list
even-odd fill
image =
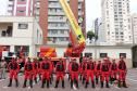
{"label": "pale white overcast sky between the high-rise towers", "polygon": [[[130,13],[137,13],[137,0],[130,1]],[[101,0],[86,0],[86,25],[87,30],[91,29],[92,21],[101,17]]]}

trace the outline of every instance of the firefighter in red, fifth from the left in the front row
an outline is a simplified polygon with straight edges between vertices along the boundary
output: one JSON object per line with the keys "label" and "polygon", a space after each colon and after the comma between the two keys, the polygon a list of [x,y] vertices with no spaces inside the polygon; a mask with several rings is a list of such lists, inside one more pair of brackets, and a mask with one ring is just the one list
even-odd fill
{"label": "firefighter in red, fifth from the left in the front row", "polygon": [[78,74],[79,74],[79,65],[76,63],[76,58],[73,60],[70,65],[70,74],[71,74],[71,88],[73,88],[73,83],[76,83],[76,88],[78,88]]}

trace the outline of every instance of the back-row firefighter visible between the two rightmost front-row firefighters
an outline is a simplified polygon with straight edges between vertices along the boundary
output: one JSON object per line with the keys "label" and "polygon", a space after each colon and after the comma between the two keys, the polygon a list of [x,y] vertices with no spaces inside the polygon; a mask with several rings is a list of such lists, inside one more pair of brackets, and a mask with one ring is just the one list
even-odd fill
{"label": "back-row firefighter visible between the two rightmost front-row firefighters", "polygon": [[115,60],[112,60],[111,64],[111,83],[117,79],[117,64],[115,63]]}

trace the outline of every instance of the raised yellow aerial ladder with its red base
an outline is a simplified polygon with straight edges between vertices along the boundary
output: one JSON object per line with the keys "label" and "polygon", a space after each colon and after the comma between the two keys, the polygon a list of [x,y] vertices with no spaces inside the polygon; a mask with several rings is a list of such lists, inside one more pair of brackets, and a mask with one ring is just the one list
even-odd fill
{"label": "raised yellow aerial ladder with its red base", "polygon": [[85,49],[85,37],[82,32],[82,28],[78,26],[76,17],[74,16],[68,3],[66,0],[59,0],[62,5],[62,9],[70,22],[72,29],[70,30],[71,43],[68,44],[65,55],[78,57]]}

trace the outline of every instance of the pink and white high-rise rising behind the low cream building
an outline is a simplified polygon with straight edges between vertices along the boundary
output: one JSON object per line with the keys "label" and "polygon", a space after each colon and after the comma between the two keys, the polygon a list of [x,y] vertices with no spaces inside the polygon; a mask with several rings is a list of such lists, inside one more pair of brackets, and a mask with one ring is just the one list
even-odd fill
{"label": "pink and white high-rise rising behind the low cream building", "polygon": [[34,12],[35,0],[9,0],[8,15],[32,16]]}

